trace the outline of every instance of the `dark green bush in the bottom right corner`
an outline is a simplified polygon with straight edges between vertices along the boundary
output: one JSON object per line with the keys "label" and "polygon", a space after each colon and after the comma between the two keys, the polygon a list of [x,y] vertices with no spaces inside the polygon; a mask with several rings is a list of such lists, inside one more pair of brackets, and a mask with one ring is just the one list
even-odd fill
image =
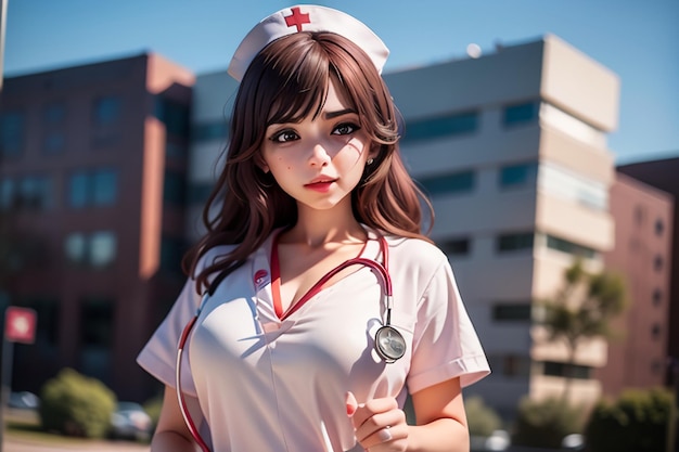
{"label": "dark green bush in the bottom right corner", "polygon": [[585,428],[592,452],[664,451],[672,396],[662,388],[630,389],[617,401],[601,400]]}

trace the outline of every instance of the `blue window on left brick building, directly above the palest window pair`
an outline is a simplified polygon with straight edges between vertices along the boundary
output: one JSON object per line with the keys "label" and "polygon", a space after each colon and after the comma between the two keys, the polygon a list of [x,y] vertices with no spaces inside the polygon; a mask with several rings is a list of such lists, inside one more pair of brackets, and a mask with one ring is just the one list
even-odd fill
{"label": "blue window on left brick building, directly above the palest window pair", "polygon": [[114,169],[77,171],[71,176],[68,189],[72,207],[110,206],[118,197],[118,172]]}

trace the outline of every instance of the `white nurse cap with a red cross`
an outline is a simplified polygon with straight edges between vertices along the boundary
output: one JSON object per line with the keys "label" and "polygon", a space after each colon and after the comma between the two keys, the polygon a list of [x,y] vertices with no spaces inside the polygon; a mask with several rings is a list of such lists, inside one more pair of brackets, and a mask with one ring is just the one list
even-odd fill
{"label": "white nurse cap with a red cross", "polygon": [[299,31],[331,31],[344,36],[370,56],[377,73],[382,73],[389,55],[382,39],[362,22],[331,8],[300,4],[265,17],[249,30],[231,59],[229,75],[241,81],[249,63],[269,42]]}

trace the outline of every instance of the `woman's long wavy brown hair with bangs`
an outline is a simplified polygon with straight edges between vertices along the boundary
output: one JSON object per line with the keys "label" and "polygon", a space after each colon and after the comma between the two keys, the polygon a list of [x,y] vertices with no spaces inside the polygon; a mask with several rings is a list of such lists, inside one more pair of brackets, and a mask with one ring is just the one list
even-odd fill
{"label": "woman's long wavy brown hair with bangs", "polygon": [[[262,49],[247,68],[233,105],[223,170],[205,208],[207,233],[187,253],[183,269],[208,288],[213,273],[242,266],[277,228],[297,220],[295,199],[260,169],[260,147],[271,124],[318,115],[334,79],[358,112],[361,128],[379,147],[351,193],[356,219],[386,233],[430,241],[422,232],[422,207],[432,205],[408,175],[398,151],[397,109],[370,57],[353,41],[332,33],[296,33]],[[216,212],[216,215],[214,215]],[[431,242],[431,241],[430,241]],[[235,245],[196,275],[198,260],[218,245]]]}

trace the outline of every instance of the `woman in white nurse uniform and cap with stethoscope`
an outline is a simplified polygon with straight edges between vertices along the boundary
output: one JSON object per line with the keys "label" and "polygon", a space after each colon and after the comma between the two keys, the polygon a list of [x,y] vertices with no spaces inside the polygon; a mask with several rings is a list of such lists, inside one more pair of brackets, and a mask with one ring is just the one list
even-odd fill
{"label": "woman in white nurse uniform and cap with stethoscope", "polygon": [[387,54],[313,5],[265,18],[236,50],[207,233],[138,359],[166,385],[152,451],[469,451],[461,388],[489,369],[421,232]]}

